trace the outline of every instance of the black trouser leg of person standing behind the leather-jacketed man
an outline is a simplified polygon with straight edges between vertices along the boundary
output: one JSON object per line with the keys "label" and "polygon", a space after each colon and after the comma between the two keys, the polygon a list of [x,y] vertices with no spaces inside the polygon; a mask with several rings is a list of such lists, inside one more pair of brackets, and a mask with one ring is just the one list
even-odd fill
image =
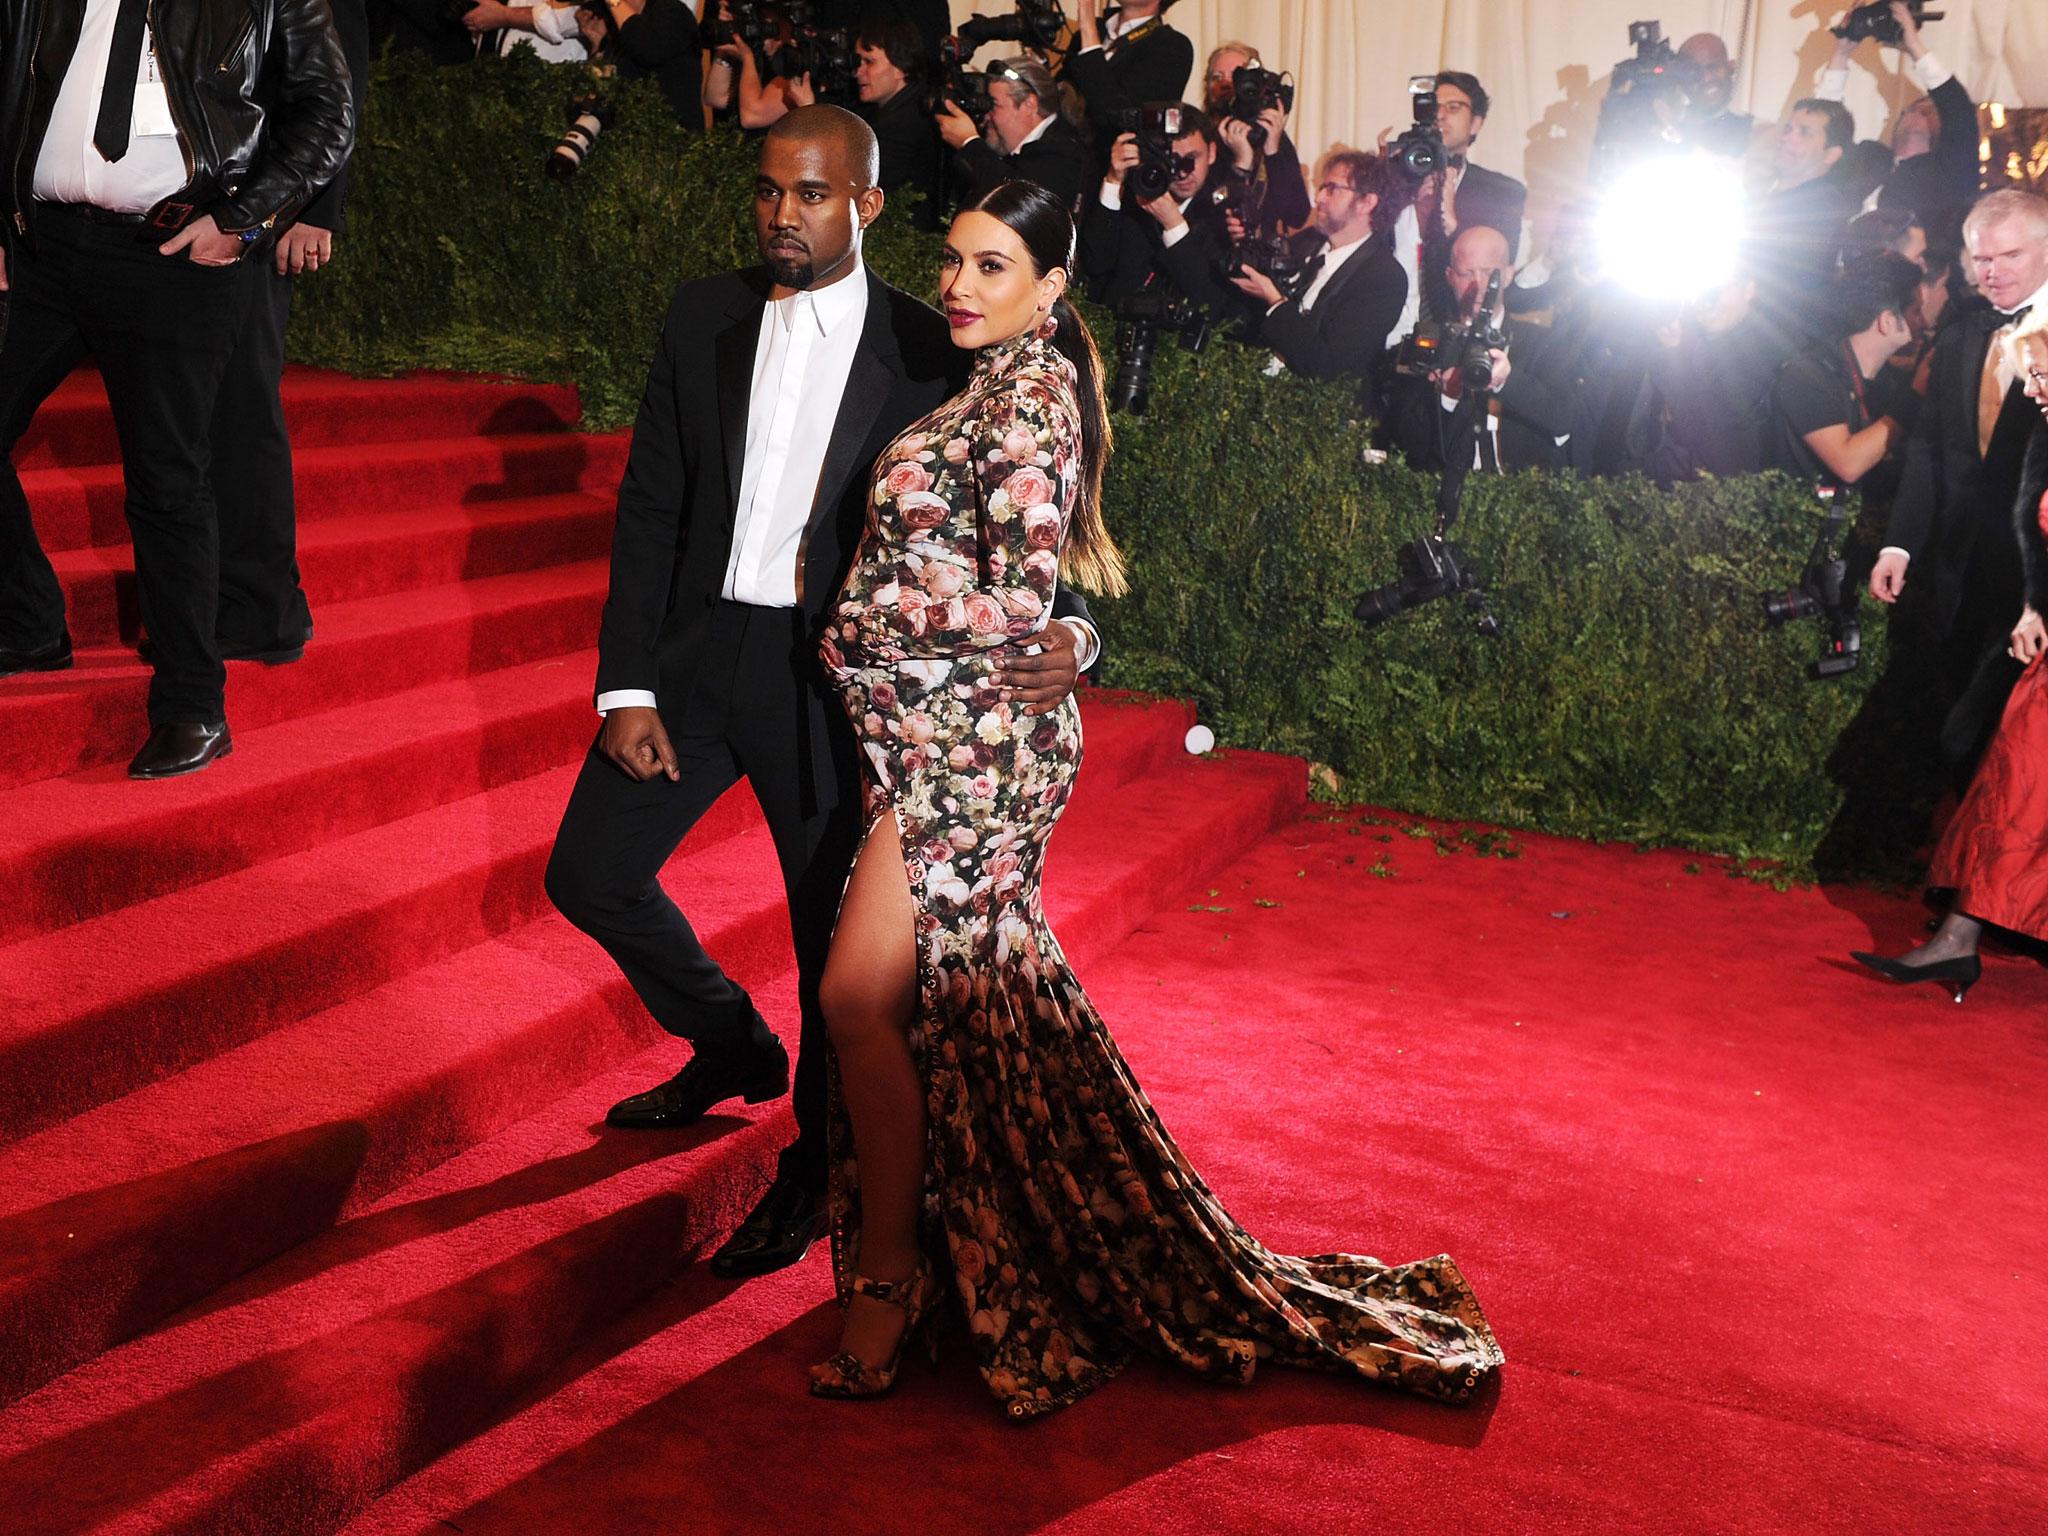
{"label": "black trouser leg of person standing behind the leather-jacketed man", "polygon": [[213,504],[221,524],[221,602],[213,637],[236,649],[301,643],[313,614],[299,586],[299,518],[285,432],[285,328],[293,279],[272,258],[250,272],[250,305],[213,401]]}

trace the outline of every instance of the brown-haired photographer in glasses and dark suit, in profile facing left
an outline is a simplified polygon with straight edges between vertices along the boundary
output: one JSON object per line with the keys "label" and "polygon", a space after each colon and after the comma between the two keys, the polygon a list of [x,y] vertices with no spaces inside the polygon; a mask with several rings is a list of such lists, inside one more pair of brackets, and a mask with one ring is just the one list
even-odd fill
{"label": "brown-haired photographer in glasses and dark suit, in profile facing left", "polygon": [[1239,268],[1231,279],[1264,309],[1243,340],[1270,346],[1309,379],[1374,379],[1407,301],[1407,272],[1391,244],[1405,190],[1378,156],[1333,154],[1315,188],[1315,231],[1298,238],[1303,266],[1292,297],[1260,270]]}

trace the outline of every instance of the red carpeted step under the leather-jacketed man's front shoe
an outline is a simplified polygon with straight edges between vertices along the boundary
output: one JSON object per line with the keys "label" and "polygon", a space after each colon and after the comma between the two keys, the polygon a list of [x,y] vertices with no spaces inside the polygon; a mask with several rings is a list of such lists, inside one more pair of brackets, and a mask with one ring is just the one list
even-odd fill
{"label": "red carpeted step under the leather-jacketed man's front shoe", "polygon": [[[608,561],[489,575],[424,592],[340,602],[313,618],[305,657],[283,668],[227,664],[227,719],[236,731],[315,715],[428,682],[582,651],[598,633]],[[586,672],[586,682],[588,682]],[[131,651],[86,651],[70,672],[0,680],[0,786],[106,764],[121,778],[147,733],[150,670]],[[240,756],[193,784],[240,772]],[[197,793],[150,786],[166,799]]]}

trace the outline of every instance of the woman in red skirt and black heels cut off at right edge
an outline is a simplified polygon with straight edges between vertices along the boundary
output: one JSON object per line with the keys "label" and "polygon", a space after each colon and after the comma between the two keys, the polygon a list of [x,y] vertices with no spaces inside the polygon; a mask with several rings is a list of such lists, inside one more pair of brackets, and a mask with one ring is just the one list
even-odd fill
{"label": "woman in red skirt and black heels cut off at right edge", "polygon": [[[2048,313],[2034,313],[2007,342],[2015,373],[2025,381],[2028,399],[2048,416]],[[2036,428],[2028,467],[2042,463],[2048,428]],[[2030,473],[2028,487],[2040,487]],[[2021,500],[2015,518],[2025,608],[2013,625],[2011,653],[2025,662],[2013,696],[2005,705],[1999,733],[1970,780],[1970,791],[1942,834],[1929,885],[1954,889],[1948,918],[1919,948],[1896,961],[1851,950],[1858,961],[1892,981],[1935,981],[1956,993],[1956,1001],[1976,985],[1976,958],[1985,926],[2009,928],[2048,940],[2048,496],[2040,504]]]}

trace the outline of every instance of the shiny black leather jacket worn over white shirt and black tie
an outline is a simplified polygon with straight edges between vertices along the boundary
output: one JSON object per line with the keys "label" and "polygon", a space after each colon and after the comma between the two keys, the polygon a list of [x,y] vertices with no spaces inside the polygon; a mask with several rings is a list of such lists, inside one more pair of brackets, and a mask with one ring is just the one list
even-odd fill
{"label": "shiny black leather jacket worn over white shirt and black tie", "polygon": [[[35,240],[31,182],[84,0],[0,0],[0,240]],[[188,184],[152,211],[176,229],[283,231],[348,160],[354,109],[328,0],[150,0]],[[268,244],[256,242],[258,246]]]}

